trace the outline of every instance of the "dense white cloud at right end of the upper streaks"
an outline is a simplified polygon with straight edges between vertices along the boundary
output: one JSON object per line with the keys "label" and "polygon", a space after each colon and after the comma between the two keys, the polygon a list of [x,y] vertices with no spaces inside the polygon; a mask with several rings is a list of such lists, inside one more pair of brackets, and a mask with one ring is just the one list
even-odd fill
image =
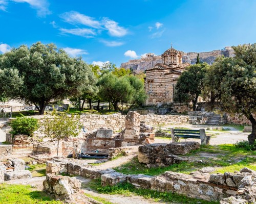
{"label": "dense white cloud at right end of the upper streaks", "polygon": [[103,19],[104,27],[109,31],[111,36],[122,37],[127,34],[127,30],[118,25],[118,22],[110,20],[109,18]]}

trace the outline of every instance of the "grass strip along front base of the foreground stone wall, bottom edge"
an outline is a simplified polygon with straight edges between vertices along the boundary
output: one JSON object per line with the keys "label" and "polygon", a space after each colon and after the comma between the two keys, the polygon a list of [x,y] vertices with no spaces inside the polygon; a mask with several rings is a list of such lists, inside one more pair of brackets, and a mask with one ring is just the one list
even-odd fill
{"label": "grass strip along front base of the foreground stone wall, bottom edge", "polygon": [[217,201],[206,201],[196,198],[188,198],[185,195],[180,195],[171,192],[158,192],[148,189],[137,189],[132,184],[122,183],[116,186],[100,186],[100,179],[93,180],[89,184],[90,188],[97,190],[99,193],[105,194],[121,194],[124,196],[142,196],[145,199],[153,199],[156,202],[175,202],[175,203],[191,203],[191,204],[217,204]]}

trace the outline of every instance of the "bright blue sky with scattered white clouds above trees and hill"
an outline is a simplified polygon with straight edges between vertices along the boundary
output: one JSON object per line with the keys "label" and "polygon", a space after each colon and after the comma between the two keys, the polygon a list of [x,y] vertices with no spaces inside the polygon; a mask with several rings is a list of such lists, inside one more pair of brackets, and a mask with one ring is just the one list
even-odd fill
{"label": "bright blue sky with scattered white clouds above trees and hill", "polygon": [[122,62],[173,46],[207,52],[256,40],[254,0],[0,0],[0,53],[55,43],[88,63]]}

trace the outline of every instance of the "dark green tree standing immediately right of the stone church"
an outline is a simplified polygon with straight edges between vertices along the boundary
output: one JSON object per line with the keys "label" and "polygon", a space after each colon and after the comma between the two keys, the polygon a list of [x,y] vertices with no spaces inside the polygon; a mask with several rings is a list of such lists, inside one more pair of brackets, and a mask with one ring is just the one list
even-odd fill
{"label": "dark green tree standing immediately right of the stone church", "polygon": [[199,63],[189,66],[183,71],[175,87],[174,101],[193,102],[193,110],[196,110],[197,99],[203,89],[203,80],[209,65]]}

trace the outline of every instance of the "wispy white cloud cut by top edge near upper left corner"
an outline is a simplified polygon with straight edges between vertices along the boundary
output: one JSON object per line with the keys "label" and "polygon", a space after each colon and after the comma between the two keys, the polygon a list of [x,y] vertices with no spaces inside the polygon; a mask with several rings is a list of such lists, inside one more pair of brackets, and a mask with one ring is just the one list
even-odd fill
{"label": "wispy white cloud cut by top edge near upper left corner", "polygon": [[37,15],[40,17],[45,17],[46,15],[51,14],[49,11],[49,3],[47,0],[11,0],[16,3],[28,3],[31,8],[37,10]]}

